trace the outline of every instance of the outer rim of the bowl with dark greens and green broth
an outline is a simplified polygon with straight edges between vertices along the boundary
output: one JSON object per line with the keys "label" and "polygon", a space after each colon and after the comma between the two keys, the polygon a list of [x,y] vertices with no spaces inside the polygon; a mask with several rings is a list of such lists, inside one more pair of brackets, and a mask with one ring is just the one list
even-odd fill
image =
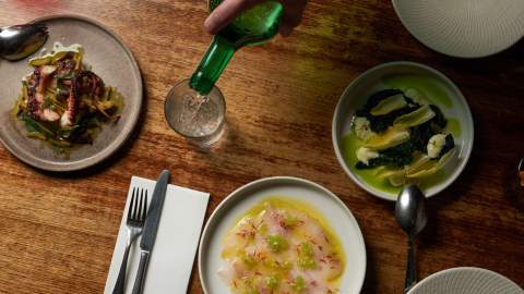
{"label": "outer rim of the bowl with dark greens and green broth", "polygon": [[359,74],[355,79],[352,81],[352,83],[349,83],[349,85],[346,87],[346,89],[342,94],[341,98],[338,99],[338,102],[336,103],[335,111],[334,111],[334,114],[333,114],[332,127],[331,127],[332,128],[333,148],[335,150],[335,156],[336,156],[336,159],[338,161],[338,164],[342,166],[342,168],[344,169],[346,174],[349,175],[349,177],[353,180],[353,182],[355,182],[358,186],[364,188],[369,194],[374,195],[374,196],[377,196],[379,198],[382,198],[382,199],[385,199],[385,200],[390,200],[390,201],[395,200],[394,198],[391,197],[390,194],[386,194],[382,191],[370,187],[369,185],[367,185],[366,183],[360,181],[354,174],[354,172],[347,167],[347,163],[344,159],[344,156],[338,148],[338,142],[340,142],[338,123],[340,123],[340,120],[342,119],[340,117],[342,115],[341,112],[343,111],[343,109],[342,109],[343,101],[345,99],[348,99],[347,97],[349,96],[349,91],[353,90],[353,88],[355,88],[359,83],[365,81],[368,75],[370,75],[374,72],[381,71],[381,70],[383,70],[384,68],[388,68],[388,66],[403,66],[403,65],[404,66],[419,68],[421,70],[428,71],[431,74],[434,74],[434,75],[439,76],[440,78],[442,78],[442,81],[444,81],[454,91],[456,91],[456,94],[457,94],[456,98],[458,98],[458,100],[461,100],[461,102],[465,106],[466,111],[465,111],[464,114],[466,117],[466,120],[467,120],[468,124],[472,125],[472,130],[471,130],[472,132],[468,133],[469,136],[466,138],[467,140],[471,142],[469,148],[466,149],[464,160],[460,163],[460,166],[457,166],[458,171],[453,173],[450,177],[448,177],[445,180],[445,182],[441,183],[438,187],[436,187],[436,189],[432,193],[428,193],[426,195],[427,198],[439,194],[440,192],[445,189],[448,186],[450,186],[453,182],[455,182],[455,180],[462,174],[462,172],[466,168],[467,162],[469,161],[469,158],[472,156],[473,146],[474,146],[474,143],[475,143],[475,135],[474,135],[475,124],[474,124],[474,121],[473,121],[473,115],[472,115],[472,110],[469,109],[469,105],[467,103],[466,98],[464,98],[464,95],[458,89],[458,87],[448,76],[445,76],[443,73],[441,73],[441,72],[437,71],[436,69],[432,69],[428,65],[417,63],[417,62],[413,62],[413,61],[392,61],[392,62],[385,62],[385,63],[378,64],[378,65],[365,71],[364,73]]}

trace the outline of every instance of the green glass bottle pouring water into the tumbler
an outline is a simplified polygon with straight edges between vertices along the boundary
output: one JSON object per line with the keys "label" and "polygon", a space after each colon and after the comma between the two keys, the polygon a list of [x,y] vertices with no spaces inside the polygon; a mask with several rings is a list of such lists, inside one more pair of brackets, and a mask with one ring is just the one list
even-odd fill
{"label": "green glass bottle pouring water into the tumbler", "polygon": [[[221,2],[210,0],[210,11]],[[282,11],[281,3],[267,1],[242,12],[213,38],[189,86],[200,95],[207,95],[237,49],[262,44],[276,35]]]}

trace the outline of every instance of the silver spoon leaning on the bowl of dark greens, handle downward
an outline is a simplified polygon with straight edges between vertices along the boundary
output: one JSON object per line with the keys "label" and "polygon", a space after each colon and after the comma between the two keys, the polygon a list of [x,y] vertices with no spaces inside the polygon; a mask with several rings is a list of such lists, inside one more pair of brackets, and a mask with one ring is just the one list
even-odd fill
{"label": "silver spoon leaning on the bowl of dark greens, handle downward", "polygon": [[428,221],[426,215],[426,196],[416,185],[404,186],[395,205],[395,219],[402,230],[407,233],[407,269],[404,292],[417,282],[417,264],[414,241]]}

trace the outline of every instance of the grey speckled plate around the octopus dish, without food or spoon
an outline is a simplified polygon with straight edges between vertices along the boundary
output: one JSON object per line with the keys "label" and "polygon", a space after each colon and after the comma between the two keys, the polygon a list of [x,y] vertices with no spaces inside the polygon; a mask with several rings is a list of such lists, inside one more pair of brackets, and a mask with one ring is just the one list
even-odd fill
{"label": "grey speckled plate around the octopus dish, without food or spoon", "polygon": [[142,107],[140,70],[120,38],[97,22],[73,15],[36,21],[49,28],[49,39],[44,45],[48,50],[55,41],[66,46],[78,42],[84,47],[84,62],[93,66],[106,85],[117,87],[122,94],[122,117],[117,123],[105,124],[93,145],[73,150],[69,158],[56,155],[45,142],[27,138],[25,126],[10,113],[22,87],[21,78],[31,72],[27,59],[19,62],[0,60],[0,140],[19,159],[35,168],[48,171],[85,169],[108,158],[130,136]]}

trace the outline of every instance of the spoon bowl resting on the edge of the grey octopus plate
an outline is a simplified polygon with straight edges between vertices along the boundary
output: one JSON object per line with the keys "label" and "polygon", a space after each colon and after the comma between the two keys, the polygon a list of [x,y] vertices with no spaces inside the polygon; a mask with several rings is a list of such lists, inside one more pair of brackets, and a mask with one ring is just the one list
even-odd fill
{"label": "spoon bowl resting on the edge of the grey octopus plate", "polygon": [[33,54],[46,42],[47,27],[44,24],[24,24],[0,29],[0,58],[16,61]]}

